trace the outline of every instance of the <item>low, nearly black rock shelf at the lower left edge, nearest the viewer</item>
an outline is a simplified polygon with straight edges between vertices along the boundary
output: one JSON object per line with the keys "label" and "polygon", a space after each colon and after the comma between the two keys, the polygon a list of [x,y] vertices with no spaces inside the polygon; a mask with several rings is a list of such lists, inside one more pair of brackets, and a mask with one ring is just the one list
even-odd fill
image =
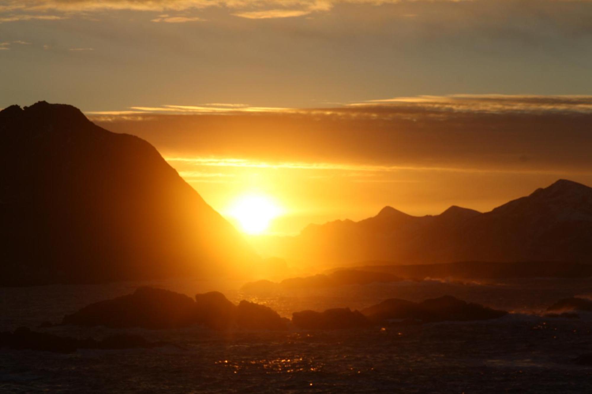
{"label": "low, nearly black rock shelf at the lower left edge, nearest the viewer", "polygon": [[0,333],[0,348],[8,347],[15,350],[51,351],[53,353],[72,353],[77,349],[131,349],[153,348],[166,343],[152,343],[139,335],[118,334],[111,335],[101,341],[92,338],[77,340],[75,338],[59,337],[46,332],[35,332],[27,327],[19,327],[14,332]]}

